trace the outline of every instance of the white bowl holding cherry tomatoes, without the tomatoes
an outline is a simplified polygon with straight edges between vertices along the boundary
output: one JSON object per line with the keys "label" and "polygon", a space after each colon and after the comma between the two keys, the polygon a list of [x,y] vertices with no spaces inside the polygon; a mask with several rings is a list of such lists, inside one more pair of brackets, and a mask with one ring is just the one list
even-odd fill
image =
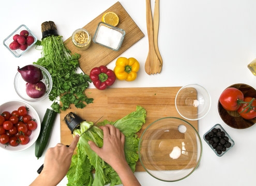
{"label": "white bowl holding cherry tomatoes, without the tomatoes", "polygon": [[37,122],[37,128],[32,131],[31,135],[29,136],[29,142],[26,145],[18,145],[16,147],[13,147],[11,145],[6,145],[6,144],[1,144],[0,143],[0,148],[4,150],[9,150],[13,152],[17,151],[22,151],[25,150],[29,147],[31,147],[37,140],[40,129],[41,129],[41,122],[40,118],[38,116],[38,113],[36,112],[35,108],[31,106],[30,104],[26,103],[25,101],[20,101],[20,100],[13,100],[13,101],[8,101],[0,105],[0,114],[3,113],[4,111],[8,111],[11,113],[12,111],[17,111],[20,106],[26,106],[29,108],[28,114],[31,115],[32,118],[36,119]]}

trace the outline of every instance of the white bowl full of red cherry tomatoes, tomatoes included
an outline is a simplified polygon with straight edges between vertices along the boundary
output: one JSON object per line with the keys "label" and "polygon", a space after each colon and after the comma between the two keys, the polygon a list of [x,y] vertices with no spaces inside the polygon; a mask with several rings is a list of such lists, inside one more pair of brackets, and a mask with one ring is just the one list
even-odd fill
{"label": "white bowl full of red cherry tomatoes, tomatoes included", "polygon": [[0,147],[22,151],[31,147],[39,136],[40,118],[30,104],[9,101],[0,105]]}

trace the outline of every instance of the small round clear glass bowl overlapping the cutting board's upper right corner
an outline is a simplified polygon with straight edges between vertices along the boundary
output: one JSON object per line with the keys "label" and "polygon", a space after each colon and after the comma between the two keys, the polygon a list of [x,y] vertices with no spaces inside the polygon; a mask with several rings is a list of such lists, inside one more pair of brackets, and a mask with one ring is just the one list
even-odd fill
{"label": "small round clear glass bowl overlapping the cutting board's upper right corner", "polygon": [[198,84],[180,88],[175,97],[175,106],[179,115],[189,120],[203,118],[209,112],[210,105],[208,91]]}

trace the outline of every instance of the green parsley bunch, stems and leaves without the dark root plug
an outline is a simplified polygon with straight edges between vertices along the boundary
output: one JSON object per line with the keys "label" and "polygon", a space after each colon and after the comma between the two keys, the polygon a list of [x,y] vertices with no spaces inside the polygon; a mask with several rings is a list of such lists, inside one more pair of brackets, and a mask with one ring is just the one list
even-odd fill
{"label": "green parsley bunch, stems and leaves without the dark root plug", "polygon": [[[70,104],[83,108],[86,104],[92,103],[93,98],[87,98],[84,90],[91,83],[89,75],[76,73],[79,66],[80,54],[70,55],[65,48],[62,36],[48,36],[37,42],[42,45],[42,57],[34,64],[46,68],[52,76],[52,90],[49,99],[54,101],[51,105],[55,112],[65,111]],[[60,97],[61,105],[56,102]]]}

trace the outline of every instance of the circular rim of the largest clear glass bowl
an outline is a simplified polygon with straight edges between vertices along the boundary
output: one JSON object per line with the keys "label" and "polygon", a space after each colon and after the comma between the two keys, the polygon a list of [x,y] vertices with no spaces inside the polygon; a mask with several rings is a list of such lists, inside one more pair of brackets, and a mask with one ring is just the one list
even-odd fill
{"label": "circular rim of the largest clear glass bowl", "polygon": [[[198,160],[197,165],[193,168],[193,170],[192,170],[187,176],[185,176],[185,177],[183,177],[183,178],[180,178],[180,179],[176,179],[176,180],[163,180],[163,179],[157,178],[156,176],[152,175],[152,174],[149,173],[148,170],[145,168],[145,166],[144,166],[144,164],[143,164],[143,162],[142,162],[142,160],[141,160],[140,145],[141,145],[141,139],[142,139],[144,133],[147,131],[147,129],[148,129],[150,126],[152,126],[155,122],[157,122],[157,121],[159,121],[159,120],[162,120],[162,119],[171,119],[171,118],[172,118],[172,119],[179,119],[179,120],[182,120],[182,121],[186,122],[190,127],[192,127],[192,129],[194,129],[195,133],[198,135],[198,138],[199,138],[201,151],[200,151],[200,157],[199,157],[199,160]],[[147,126],[147,128],[143,131],[143,133],[142,133],[142,135],[141,135],[141,137],[140,137],[139,148],[138,148],[139,159],[140,159],[140,162],[141,162],[143,168],[146,170],[146,172],[147,172],[150,176],[152,176],[152,177],[154,177],[154,178],[156,178],[156,179],[158,179],[158,180],[160,180],[160,181],[165,181],[165,182],[175,182],[175,181],[183,180],[183,179],[187,178],[189,175],[191,175],[191,174],[194,172],[194,170],[197,169],[197,167],[198,167],[198,165],[199,165],[199,163],[200,163],[200,161],[201,161],[202,152],[203,152],[203,145],[202,145],[202,140],[201,140],[201,137],[200,137],[198,131],[197,131],[188,121],[186,121],[186,120],[184,120],[184,119],[182,119],[182,118],[178,118],[178,117],[163,117],[163,118],[157,119],[157,120],[155,120],[154,122],[150,123],[149,126]]]}

